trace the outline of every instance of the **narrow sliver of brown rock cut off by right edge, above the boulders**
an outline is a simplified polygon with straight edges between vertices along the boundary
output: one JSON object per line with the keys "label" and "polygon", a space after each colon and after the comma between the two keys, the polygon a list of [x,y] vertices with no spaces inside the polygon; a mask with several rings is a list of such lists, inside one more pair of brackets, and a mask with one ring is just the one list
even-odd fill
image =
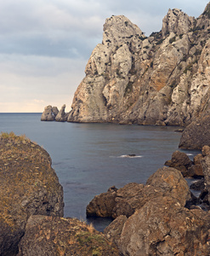
{"label": "narrow sliver of brown rock cut off by right edge, above the boulders", "polygon": [[208,204],[210,204],[210,147],[204,146],[202,148],[203,159],[201,165],[204,173],[205,189],[207,190]]}

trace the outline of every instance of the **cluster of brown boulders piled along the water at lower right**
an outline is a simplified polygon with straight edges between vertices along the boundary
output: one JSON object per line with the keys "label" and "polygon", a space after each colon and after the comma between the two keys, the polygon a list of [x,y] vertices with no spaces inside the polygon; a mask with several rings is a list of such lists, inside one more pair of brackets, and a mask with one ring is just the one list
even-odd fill
{"label": "cluster of brown boulders piled along the water at lower right", "polygon": [[[87,216],[115,219],[105,235],[120,255],[209,255],[210,147],[194,161],[176,151],[166,164],[173,167],[157,170],[146,184],[113,186],[88,204]],[[204,177],[198,198],[184,177]]]}

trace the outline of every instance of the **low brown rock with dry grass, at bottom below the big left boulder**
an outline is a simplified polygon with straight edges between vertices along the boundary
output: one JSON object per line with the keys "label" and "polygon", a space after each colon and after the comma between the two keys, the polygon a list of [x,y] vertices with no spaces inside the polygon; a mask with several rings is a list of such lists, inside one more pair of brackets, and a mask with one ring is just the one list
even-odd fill
{"label": "low brown rock with dry grass, at bottom below the big left boulder", "polygon": [[31,216],[18,256],[119,255],[101,233],[76,218]]}

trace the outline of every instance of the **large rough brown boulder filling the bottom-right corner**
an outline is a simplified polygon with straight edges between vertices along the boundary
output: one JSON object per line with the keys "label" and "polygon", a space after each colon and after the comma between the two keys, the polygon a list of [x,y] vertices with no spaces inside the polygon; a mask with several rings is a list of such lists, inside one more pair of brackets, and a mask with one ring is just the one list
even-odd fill
{"label": "large rough brown boulder filling the bottom-right corner", "polygon": [[171,197],[154,198],[125,222],[122,255],[209,255],[209,214],[188,210]]}

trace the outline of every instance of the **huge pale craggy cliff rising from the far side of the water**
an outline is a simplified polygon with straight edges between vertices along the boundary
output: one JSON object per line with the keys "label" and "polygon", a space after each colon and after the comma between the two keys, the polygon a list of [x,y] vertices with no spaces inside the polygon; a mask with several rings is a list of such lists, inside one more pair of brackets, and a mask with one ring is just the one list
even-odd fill
{"label": "huge pale craggy cliff rising from the far side of the water", "polygon": [[209,64],[210,3],[197,19],[169,9],[148,38],[125,16],[111,16],[67,120],[189,125],[209,108]]}

